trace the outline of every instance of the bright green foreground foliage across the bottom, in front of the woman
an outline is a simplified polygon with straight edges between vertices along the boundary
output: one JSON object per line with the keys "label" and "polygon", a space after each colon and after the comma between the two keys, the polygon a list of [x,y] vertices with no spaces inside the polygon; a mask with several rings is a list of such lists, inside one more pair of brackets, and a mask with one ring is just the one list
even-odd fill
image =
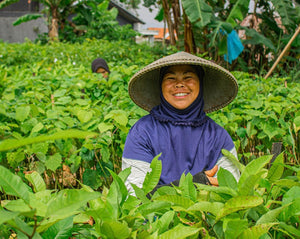
{"label": "bright green foreground foliage across the bottom, in front of the woman", "polygon": [[296,176],[284,178],[282,154],[269,170],[265,169],[269,155],[246,167],[241,165],[238,183],[222,169],[218,173],[219,187],[195,187],[192,176],[183,174],[178,187],[162,187],[150,196],[148,192],[157,183],[152,179],[158,179],[161,173],[158,157],[153,159],[152,172],[147,174],[143,187],[134,187],[137,197],[130,195],[124,184],[129,168],[119,175],[111,172],[114,181],[100,194],[85,185],[82,189],[51,192],[36,172],[26,175],[32,185],[28,187],[0,166],[2,192],[15,197],[2,201],[0,227],[28,238],[300,236],[299,167],[290,168]]}

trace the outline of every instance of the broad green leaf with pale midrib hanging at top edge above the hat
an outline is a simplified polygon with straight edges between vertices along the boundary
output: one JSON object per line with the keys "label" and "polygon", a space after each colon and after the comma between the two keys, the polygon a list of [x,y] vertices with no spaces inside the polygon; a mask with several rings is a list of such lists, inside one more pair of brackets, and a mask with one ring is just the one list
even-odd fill
{"label": "broad green leaf with pale midrib hanging at top edge above the hat", "polygon": [[181,3],[192,24],[202,28],[210,23],[213,11],[205,0],[182,0]]}

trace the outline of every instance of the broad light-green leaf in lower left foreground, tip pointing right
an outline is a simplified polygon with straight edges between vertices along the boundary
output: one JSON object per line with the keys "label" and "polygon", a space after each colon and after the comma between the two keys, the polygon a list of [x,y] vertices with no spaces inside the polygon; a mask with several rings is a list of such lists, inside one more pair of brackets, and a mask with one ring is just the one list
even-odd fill
{"label": "broad light-green leaf in lower left foreground, tip pointing right", "polygon": [[82,211],[88,201],[100,196],[99,192],[79,189],[61,190],[49,201],[46,216],[50,217],[50,221],[65,219]]}

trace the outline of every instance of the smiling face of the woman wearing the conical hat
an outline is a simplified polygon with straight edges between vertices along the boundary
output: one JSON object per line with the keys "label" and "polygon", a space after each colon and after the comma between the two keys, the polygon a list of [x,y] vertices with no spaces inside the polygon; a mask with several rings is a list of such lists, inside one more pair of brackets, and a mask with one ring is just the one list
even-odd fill
{"label": "smiling face of the woman wearing the conical hat", "polygon": [[190,106],[200,91],[200,81],[190,65],[170,66],[163,76],[162,94],[173,107],[183,110]]}

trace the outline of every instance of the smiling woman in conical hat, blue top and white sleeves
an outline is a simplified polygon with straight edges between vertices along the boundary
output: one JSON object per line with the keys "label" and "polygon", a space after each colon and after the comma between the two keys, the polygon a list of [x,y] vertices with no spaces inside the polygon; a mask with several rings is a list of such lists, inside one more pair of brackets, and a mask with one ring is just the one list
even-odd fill
{"label": "smiling woman in conical hat, blue top and white sleeves", "polygon": [[[129,95],[150,114],[136,122],[125,142],[122,169],[131,167],[128,189],[132,190],[131,183],[142,187],[152,159],[160,153],[160,185],[179,180],[182,173],[191,173],[197,182],[199,174],[217,167],[238,180],[238,169],[221,152],[227,149],[236,156],[233,141],[206,116],[229,104],[237,90],[237,81],[227,70],[186,52],[137,72],[129,82]],[[218,185],[216,178],[208,179]]]}

